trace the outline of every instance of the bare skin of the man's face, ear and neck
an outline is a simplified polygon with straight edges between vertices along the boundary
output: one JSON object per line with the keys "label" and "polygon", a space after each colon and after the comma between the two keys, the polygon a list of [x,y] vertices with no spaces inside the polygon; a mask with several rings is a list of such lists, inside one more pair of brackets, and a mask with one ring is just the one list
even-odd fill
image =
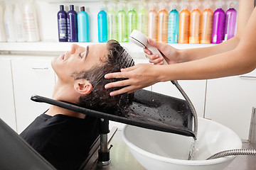
{"label": "bare skin of the man's face, ear and neck", "polygon": [[[86,79],[75,80],[72,77],[74,72],[81,72],[90,69],[95,65],[102,64],[100,60],[105,60],[107,56],[107,45],[98,44],[81,47],[73,44],[71,49],[65,54],[55,57],[51,64],[58,76],[58,81],[54,86],[52,98],[57,101],[68,101],[78,103],[81,95],[90,94],[92,84]],[[50,106],[47,115],[69,115],[76,118],[85,118],[82,113],[67,110],[57,106]]]}

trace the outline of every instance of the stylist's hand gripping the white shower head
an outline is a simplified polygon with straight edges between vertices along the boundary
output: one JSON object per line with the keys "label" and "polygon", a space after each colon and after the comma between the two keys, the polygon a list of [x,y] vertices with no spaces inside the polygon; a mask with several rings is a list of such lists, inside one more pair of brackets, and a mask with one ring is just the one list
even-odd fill
{"label": "stylist's hand gripping the white shower head", "polygon": [[166,43],[156,42],[150,38],[148,39],[148,42],[151,46],[156,47],[159,52],[161,52],[161,55],[163,55],[163,57],[156,54],[152,55],[150,50],[144,48],[144,52],[146,53],[146,57],[149,58],[149,62],[161,65],[164,64],[165,59],[168,64],[178,63],[178,50],[176,48],[171,47],[171,45]]}

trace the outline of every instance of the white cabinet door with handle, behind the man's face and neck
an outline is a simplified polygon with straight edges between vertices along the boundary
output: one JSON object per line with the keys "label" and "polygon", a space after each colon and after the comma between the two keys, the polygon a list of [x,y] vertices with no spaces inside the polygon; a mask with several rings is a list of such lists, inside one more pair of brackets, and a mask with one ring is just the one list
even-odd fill
{"label": "white cabinet door with handle, behind the man's face and neck", "polygon": [[55,84],[55,73],[50,57],[12,60],[14,99],[16,105],[17,130],[21,133],[38,115],[48,109],[46,103],[31,101],[37,94],[51,98]]}

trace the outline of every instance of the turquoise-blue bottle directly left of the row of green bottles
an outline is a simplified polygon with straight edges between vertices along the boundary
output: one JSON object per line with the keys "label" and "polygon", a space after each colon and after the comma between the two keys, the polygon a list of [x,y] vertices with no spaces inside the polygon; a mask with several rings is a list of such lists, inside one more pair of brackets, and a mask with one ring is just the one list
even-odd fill
{"label": "turquoise-blue bottle directly left of the row of green bottles", "polygon": [[97,15],[97,23],[99,42],[107,42],[107,13],[102,8]]}

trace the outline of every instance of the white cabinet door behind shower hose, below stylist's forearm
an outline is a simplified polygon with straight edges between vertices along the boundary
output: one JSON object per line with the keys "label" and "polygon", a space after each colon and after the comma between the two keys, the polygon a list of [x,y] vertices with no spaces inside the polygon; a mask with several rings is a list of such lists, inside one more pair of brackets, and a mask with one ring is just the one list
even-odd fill
{"label": "white cabinet door behind shower hose, below stylist's forearm", "polygon": [[[188,95],[193,106],[196,108],[197,115],[203,118],[204,103],[206,96],[206,80],[193,80],[193,81],[178,81],[182,89]],[[181,92],[178,91],[176,86],[171,81],[161,82],[152,86],[152,91],[176,98],[184,99]]]}

